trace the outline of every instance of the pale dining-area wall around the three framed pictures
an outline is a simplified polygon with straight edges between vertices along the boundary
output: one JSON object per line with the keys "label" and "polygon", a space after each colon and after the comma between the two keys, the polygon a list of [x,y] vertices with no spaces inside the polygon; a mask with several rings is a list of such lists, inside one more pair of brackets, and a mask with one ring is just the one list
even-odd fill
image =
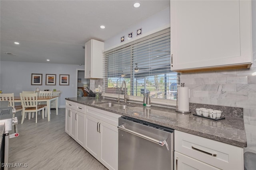
{"label": "pale dining-area wall around the three framed pictures", "polygon": [[[60,90],[60,107],[65,107],[65,98],[76,97],[76,69],[84,69],[84,65],[48,64],[1,61],[0,80],[3,93],[14,93],[19,96],[22,91]],[[31,85],[31,74],[43,74],[42,86]],[[56,86],[45,85],[46,74],[56,74]],[[60,74],[69,74],[69,86],[59,85]]]}

